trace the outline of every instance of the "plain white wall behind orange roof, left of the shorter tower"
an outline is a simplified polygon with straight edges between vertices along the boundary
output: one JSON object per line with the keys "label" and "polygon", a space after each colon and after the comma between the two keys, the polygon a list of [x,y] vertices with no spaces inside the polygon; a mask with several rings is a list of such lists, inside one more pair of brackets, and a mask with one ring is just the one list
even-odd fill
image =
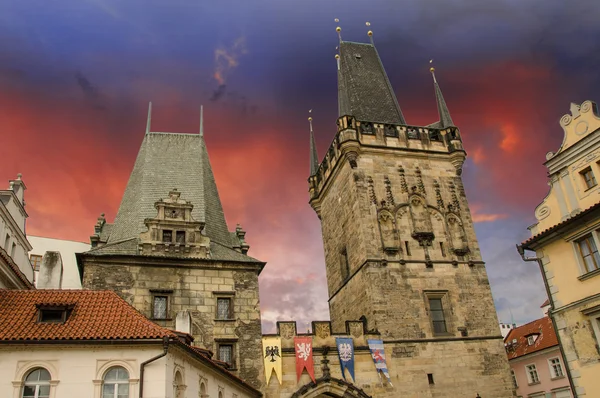
{"label": "plain white wall behind orange roof, left of the shorter tower", "polygon": [[[89,243],[75,242],[72,240],[62,240],[53,238],[44,238],[40,236],[28,236],[27,239],[33,246],[29,254],[43,256],[47,251],[60,252],[63,262],[63,289],[81,289],[81,278],[77,268],[77,259],[75,253],[83,253],[90,250]],[[37,282],[37,272],[36,272]]]}

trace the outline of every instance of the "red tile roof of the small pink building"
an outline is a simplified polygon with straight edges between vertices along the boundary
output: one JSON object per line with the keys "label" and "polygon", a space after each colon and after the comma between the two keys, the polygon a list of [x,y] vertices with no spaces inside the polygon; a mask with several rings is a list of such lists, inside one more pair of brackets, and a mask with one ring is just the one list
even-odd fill
{"label": "red tile roof of the small pink building", "polygon": [[[535,343],[529,345],[527,337],[532,334],[539,334],[539,336],[535,340]],[[512,344],[513,339],[517,340],[516,344]],[[547,316],[511,329],[504,339],[504,343],[506,344],[506,354],[508,355],[509,360],[545,350],[546,348],[558,346],[558,340],[554,333],[552,320]]]}

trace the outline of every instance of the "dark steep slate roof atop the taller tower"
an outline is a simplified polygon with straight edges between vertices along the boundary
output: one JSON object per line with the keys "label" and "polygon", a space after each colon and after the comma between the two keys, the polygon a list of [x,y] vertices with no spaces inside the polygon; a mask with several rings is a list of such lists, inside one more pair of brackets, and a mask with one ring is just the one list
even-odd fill
{"label": "dark steep slate roof atop the taller tower", "polygon": [[406,124],[379,54],[372,44],[340,43],[338,108],[340,116]]}

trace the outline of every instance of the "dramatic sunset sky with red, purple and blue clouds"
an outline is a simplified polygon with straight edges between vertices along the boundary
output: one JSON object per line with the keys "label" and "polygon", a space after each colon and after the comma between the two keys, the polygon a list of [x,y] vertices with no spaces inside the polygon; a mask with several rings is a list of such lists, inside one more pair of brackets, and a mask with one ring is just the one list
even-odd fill
{"label": "dramatic sunset sky with red, purple and blue clouds", "polygon": [[[334,19],[339,19],[339,23]],[[263,330],[328,319],[308,205],[308,110],[319,154],[336,132],[336,26],[375,45],[409,124],[438,120],[429,60],[468,159],[463,178],[499,319],[542,316],[529,236],[545,153],[570,102],[600,100],[593,0],[4,0],[0,183],[23,174],[27,233],[88,241],[112,222],[145,132],[198,131],[227,222],[247,231]],[[366,22],[370,22],[367,28]]]}

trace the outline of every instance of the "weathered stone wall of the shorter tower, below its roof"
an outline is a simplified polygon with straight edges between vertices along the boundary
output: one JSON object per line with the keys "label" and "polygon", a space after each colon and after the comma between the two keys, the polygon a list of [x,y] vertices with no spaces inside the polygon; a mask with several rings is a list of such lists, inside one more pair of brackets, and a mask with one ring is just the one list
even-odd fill
{"label": "weathered stone wall of the shorter tower, below its roof", "polygon": [[[188,311],[194,345],[218,357],[218,342],[234,345],[235,373],[260,389],[263,363],[258,271],[242,264],[147,258],[127,260],[84,255],[84,289],[114,290],[157,324],[175,329],[178,312]],[[140,265],[144,264],[144,265]],[[169,297],[166,320],[153,319],[153,295]],[[231,320],[218,320],[217,297],[230,297]]]}

